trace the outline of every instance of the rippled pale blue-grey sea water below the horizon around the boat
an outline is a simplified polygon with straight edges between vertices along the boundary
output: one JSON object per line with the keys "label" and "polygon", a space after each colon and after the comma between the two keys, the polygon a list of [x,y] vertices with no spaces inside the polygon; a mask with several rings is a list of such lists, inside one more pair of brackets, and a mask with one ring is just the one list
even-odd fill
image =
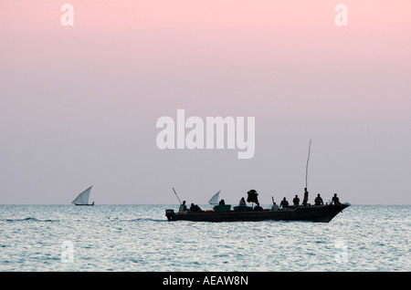
{"label": "rippled pale blue-grey sea water below the horizon around the boat", "polygon": [[331,223],[168,222],[168,208],[0,205],[0,271],[411,271],[410,205]]}

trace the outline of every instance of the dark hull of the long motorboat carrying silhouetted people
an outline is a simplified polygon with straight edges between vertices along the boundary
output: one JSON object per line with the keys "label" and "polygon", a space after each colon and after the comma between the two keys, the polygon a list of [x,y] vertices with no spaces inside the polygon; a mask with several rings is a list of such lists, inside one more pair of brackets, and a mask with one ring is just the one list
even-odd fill
{"label": "dark hull of the long motorboat carrying silhouetted people", "polygon": [[334,216],[348,207],[342,205],[299,206],[279,211],[251,212],[178,212],[166,210],[168,221],[191,222],[259,222],[259,221],[308,221],[329,223]]}

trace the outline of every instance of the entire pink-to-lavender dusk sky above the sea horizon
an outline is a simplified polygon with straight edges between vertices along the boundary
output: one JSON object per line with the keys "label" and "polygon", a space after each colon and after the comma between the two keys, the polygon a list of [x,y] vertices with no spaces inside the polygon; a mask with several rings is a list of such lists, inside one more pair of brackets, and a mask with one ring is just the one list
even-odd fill
{"label": "entire pink-to-lavender dusk sky above the sea horizon", "polygon": [[[63,25],[70,4],[72,26]],[[345,25],[337,25],[345,5]],[[0,2],[0,204],[411,204],[408,0]],[[337,19],[337,20],[338,20]],[[67,23],[65,23],[67,24]],[[163,116],[255,118],[255,154]],[[189,129],[185,129],[187,132]]]}

